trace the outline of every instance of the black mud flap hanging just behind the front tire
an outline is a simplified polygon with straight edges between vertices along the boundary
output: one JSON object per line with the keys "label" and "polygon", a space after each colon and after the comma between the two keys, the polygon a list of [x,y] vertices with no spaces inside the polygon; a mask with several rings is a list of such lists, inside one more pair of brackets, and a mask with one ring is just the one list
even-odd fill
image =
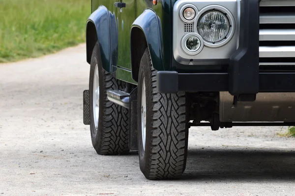
{"label": "black mud flap hanging just behind the front tire", "polygon": [[129,97],[129,149],[138,150],[137,131],[137,87]]}

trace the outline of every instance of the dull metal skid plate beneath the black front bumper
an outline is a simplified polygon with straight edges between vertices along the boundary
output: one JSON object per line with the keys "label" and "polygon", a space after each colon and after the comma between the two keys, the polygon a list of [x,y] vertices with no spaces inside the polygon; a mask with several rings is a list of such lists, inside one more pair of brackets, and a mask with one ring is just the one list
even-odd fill
{"label": "dull metal skid plate beneath the black front bumper", "polygon": [[238,102],[220,92],[221,122],[295,122],[295,93],[259,93],[256,101]]}

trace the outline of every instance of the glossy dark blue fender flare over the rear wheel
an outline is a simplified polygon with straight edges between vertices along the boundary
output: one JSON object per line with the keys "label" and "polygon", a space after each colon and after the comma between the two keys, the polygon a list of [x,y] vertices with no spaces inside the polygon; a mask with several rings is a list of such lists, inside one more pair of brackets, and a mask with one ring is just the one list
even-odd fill
{"label": "glossy dark blue fender flare over the rear wheel", "polygon": [[[110,32],[111,29],[112,33]],[[111,40],[111,37],[115,40]],[[113,50],[118,51],[118,33],[115,15],[112,14],[105,6],[99,6],[87,20],[86,56],[89,64],[91,62],[92,50],[96,41],[99,43],[102,67],[106,71],[112,72],[112,65],[117,64],[112,61],[112,56],[116,56],[117,54],[114,53]],[[116,45],[111,45],[111,43],[117,43],[117,47]],[[116,58],[114,57],[114,59]]]}

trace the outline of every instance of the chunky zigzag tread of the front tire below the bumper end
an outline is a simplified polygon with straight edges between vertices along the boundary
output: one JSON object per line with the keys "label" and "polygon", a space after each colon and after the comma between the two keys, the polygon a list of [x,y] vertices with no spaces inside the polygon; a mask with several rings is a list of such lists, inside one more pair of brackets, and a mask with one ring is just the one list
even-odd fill
{"label": "chunky zigzag tread of the front tire below the bumper end", "polygon": [[188,143],[186,95],[184,92],[158,93],[157,71],[152,66],[148,49],[145,55],[149,61],[148,84],[152,92],[152,119],[149,163],[144,174],[148,179],[173,179],[181,176],[186,166]]}

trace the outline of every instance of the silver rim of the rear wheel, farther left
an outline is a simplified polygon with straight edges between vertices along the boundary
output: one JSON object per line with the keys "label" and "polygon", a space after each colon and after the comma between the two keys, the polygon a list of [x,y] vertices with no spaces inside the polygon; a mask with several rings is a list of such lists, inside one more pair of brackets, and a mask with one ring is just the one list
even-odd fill
{"label": "silver rim of the rear wheel, farther left", "polygon": [[93,76],[93,119],[95,129],[98,129],[98,118],[99,118],[99,75],[98,66],[95,65],[94,76]]}

